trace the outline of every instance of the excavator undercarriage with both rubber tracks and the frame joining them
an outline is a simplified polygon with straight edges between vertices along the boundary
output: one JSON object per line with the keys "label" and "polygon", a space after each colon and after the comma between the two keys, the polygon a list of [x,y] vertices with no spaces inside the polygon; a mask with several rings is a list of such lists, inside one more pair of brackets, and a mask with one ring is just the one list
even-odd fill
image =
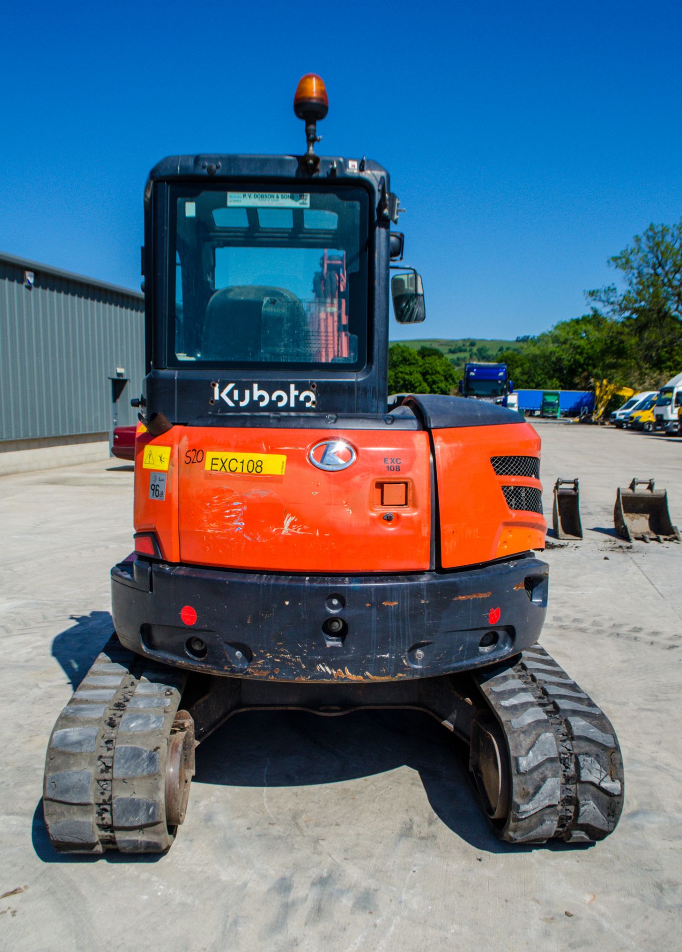
{"label": "excavator undercarriage with both rubber tracks and the frame joining them", "polygon": [[618,822],[623,768],[614,728],[539,645],[461,675],[292,689],[187,674],[113,636],[49,741],[50,841],[65,853],[164,852],[185,819],[195,744],[234,714],[376,707],[423,710],[469,744],[481,805],[508,843],[588,843]]}

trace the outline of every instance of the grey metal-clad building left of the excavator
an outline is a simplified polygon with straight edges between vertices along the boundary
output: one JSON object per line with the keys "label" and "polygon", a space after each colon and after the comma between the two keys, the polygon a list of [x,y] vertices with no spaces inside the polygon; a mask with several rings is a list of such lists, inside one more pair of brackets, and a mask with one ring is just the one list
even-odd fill
{"label": "grey metal-clad building left of the excavator", "polygon": [[107,439],[144,375],[142,294],[0,253],[0,452]]}

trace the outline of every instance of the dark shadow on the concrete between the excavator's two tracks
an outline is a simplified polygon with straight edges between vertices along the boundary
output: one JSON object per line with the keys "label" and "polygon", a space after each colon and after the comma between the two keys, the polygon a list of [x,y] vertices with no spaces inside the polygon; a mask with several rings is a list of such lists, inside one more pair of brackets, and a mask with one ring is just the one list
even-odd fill
{"label": "dark shadow on the concrete between the excavator's two tracks", "polygon": [[536,848],[497,840],[469,782],[465,758],[465,745],[419,711],[368,710],[339,717],[250,711],[230,718],[201,744],[193,783],[263,788],[342,783],[407,766],[419,773],[442,823],[476,849]]}

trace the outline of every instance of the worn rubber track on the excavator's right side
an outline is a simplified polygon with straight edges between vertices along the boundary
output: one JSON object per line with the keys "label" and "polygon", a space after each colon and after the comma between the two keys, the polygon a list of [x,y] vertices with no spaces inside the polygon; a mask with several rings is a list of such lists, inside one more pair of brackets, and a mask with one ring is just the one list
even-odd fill
{"label": "worn rubber track on the excavator's right side", "polygon": [[614,727],[539,645],[512,667],[475,675],[502,727],[512,773],[510,843],[591,843],[615,829],[623,762]]}

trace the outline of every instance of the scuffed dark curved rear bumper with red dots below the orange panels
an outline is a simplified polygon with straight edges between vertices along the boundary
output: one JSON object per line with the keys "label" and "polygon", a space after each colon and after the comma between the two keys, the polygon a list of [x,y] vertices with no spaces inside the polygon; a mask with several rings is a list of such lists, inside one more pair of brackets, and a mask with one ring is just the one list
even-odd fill
{"label": "scuffed dark curved rear bumper with red dots below the orange panels", "polygon": [[[284,682],[425,678],[493,664],[536,643],[547,588],[548,566],[532,556],[392,576],[235,572],[141,558],[111,569],[114,626],[131,650],[207,674]],[[181,617],[185,605],[196,612],[192,625]],[[340,632],[331,620],[341,621]]]}

